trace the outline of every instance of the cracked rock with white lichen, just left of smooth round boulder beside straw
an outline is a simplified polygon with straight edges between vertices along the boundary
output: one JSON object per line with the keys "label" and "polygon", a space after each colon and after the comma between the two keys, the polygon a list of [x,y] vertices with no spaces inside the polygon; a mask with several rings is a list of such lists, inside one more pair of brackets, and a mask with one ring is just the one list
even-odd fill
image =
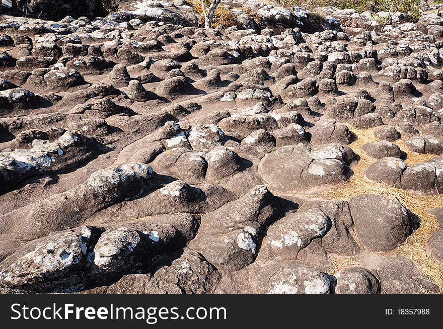
{"label": "cracked rock with white lichen, just left of smooth round boulder beside straw", "polygon": [[297,260],[331,271],[331,257],[354,256],[360,251],[343,223],[350,226],[349,221],[352,223],[347,204],[326,200],[305,203],[268,229],[258,259]]}

